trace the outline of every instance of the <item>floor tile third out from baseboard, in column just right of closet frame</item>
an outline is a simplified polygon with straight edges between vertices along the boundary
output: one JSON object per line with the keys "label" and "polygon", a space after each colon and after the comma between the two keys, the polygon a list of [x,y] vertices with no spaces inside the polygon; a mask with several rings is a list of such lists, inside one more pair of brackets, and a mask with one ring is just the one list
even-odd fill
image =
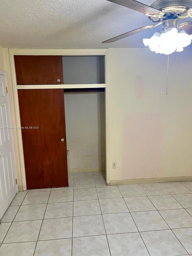
{"label": "floor tile third out from baseboard, in column just right of closet frame", "polygon": [[131,215],[139,231],[169,229],[158,211],[132,212]]}

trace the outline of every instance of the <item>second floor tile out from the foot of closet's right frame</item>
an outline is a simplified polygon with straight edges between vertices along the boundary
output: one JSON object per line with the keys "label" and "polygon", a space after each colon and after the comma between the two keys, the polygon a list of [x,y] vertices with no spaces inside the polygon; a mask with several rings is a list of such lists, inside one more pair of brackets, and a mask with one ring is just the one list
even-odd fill
{"label": "second floor tile out from the foot of closet's right frame", "polygon": [[129,212],[123,198],[99,199],[102,214]]}

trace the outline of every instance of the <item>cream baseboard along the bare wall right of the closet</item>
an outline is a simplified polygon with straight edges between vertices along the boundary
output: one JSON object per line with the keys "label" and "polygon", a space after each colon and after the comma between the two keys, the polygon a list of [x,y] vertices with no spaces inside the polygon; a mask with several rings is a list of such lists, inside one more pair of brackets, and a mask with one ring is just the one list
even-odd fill
{"label": "cream baseboard along the bare wall right of the closet", "polygon": [[111,180],[110,185],[129,185],[129,184],[141,184],[141,183],[178,182],[178,181],[192,181],[192,176],[168,177],[168,178],[149,178],[149,179]]}

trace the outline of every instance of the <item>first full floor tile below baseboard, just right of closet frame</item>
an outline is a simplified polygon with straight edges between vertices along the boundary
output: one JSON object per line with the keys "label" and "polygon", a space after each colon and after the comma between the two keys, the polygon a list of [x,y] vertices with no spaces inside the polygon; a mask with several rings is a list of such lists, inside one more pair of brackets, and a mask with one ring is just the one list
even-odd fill
{"label": "first full floor tile below baseboard, just right of closet frame", "polygon": [[139,185],[119,186],[119,190],[121,191],[123,197],[146,196],[145,192],[140,188]]}

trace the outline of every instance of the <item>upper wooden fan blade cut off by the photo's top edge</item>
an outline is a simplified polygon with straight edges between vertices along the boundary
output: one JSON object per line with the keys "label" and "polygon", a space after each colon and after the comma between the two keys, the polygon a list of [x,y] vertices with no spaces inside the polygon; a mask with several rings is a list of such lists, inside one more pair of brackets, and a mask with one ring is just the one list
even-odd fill
{"label": "upper wooden fan blade cut off by the photo's top edge", "polygon": [[118,5],[125,6],[127,8],[133,9],[135,11],[139,11],[148,16],[159,15],[162,17],[165,14],[162,11],[158,11],[157,9],[152,8],[149,5],[145,5],[145,4],[137,2],[135,0],[107,0],[107,1],[118,4]]}

